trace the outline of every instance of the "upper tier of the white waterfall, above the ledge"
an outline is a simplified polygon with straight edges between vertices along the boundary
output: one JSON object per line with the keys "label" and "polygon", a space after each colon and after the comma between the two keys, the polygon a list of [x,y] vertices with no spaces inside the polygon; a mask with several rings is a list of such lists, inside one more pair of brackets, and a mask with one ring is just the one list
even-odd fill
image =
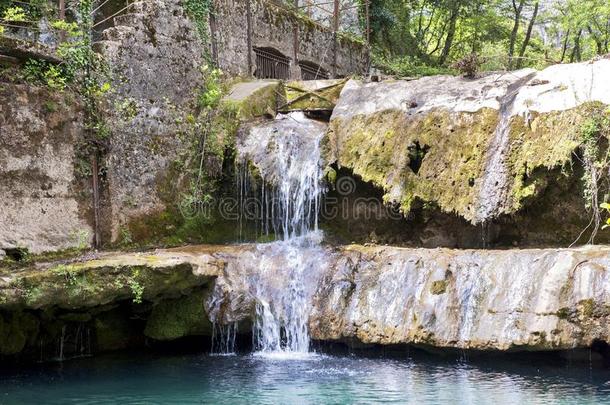
{"label": "upper tier of the white waterfall, above the ledge", "polygon": [[[325,132],[325,124],[303,113],[279,114],[274,121],[251,128],[238,142],[241,167],[253,166],[261,177],[261,192],[255,200],[263,234],[273,231],[290,240],[317,231],[322,197],[320,142]],[[242,173],[239,177],[243,208],[252,176]]]}

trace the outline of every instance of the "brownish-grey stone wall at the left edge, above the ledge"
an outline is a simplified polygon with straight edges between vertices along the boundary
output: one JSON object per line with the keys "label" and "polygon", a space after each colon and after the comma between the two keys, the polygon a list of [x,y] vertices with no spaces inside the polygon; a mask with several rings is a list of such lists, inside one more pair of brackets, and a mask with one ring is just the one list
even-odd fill
{"label": "brownish-grey stone wall at the left edge, above the ledge", "polygon": [[0,85],[0,256],[7,249],[39,253],[89,242],[89,184],[75,173],[83,166],[82,131],[73,94]]}

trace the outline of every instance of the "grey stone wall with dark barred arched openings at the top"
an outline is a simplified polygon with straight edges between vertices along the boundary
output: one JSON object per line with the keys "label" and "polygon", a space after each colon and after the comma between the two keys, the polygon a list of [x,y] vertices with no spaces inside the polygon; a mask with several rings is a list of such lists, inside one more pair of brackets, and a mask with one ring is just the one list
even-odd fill
{"label": "grey stone wall with dark barred arched openings at the top", "polygon": [[[248,76],[256,70],[256,58],[248,62],[248,4],[244,0],[216,0],[213,38],[219,66],[234,75]],[[270,47],[290,58],[291,74],[300,78],[295,63],[295,24],[298,25],[298,52],[296,59],[319,64],[337,76],[364,74],[368,53],[362,43],[339,36],[334,63],[332,31],[283,7],[256,0],[250,3],[252,47]]]}

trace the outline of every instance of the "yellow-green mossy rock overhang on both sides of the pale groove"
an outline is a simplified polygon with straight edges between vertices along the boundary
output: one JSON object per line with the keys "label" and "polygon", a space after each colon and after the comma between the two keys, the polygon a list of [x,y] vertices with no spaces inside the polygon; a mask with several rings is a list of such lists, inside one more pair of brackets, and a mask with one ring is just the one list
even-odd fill
{"label": "yellow-green mossy rock overhang on both sides of the pale groove", "polygon": [[[583,143],[583,124],[609,114],[603,104],[586,103],[566,111],[532,112],[527,120],[513,117],[505,157],[507,198],[499,213],[522,210],[558,182],[558,171],[564,178],[573,176],[571,164]],[[405,214],[433,204],[474,223],[498,119],[498,111],[491,108],[339,115],[331,120],[325,154],[330,163],[381,188],[384,201],[399,203]],[[416,147],[421,153],[412,153]]]}

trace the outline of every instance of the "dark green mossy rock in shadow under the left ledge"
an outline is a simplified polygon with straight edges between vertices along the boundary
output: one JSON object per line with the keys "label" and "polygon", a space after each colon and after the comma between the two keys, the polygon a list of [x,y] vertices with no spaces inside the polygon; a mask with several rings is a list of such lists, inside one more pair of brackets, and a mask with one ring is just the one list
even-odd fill
{"label": "dark green mossy rock in shadow under the left ledge", "polygon": [[205,291],[164,300],[153,307],[144,334],[155,340],[174,340],[185,336],[211,336],[212,324],[204,309]]}

